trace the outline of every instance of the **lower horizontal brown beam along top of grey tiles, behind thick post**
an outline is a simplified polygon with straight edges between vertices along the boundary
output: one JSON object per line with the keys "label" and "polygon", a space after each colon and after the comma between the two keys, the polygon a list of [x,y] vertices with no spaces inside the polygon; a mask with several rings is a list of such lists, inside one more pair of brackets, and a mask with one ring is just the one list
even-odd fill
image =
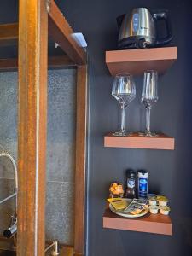
{"label": "lower horizontal brown beam along top of grey tiles, behind thick post", "polygon": [[[49,56],[49,69],[76,68],[76,65],[67,55]],[[0,72],[14,72],[18,70],[17,59],[0,59]]]}

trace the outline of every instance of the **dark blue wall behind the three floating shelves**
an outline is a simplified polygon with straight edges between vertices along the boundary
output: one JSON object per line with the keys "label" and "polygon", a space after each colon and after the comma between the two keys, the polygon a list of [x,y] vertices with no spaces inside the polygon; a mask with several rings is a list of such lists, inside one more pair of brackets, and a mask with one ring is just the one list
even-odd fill
{"label": "dark blue wall behind the three floating shelves", "polygon": [[[187,0],[57,1],[73,28],[84,32],[89,44],[90,72],[90,167],[88,179],[89,256],[191,256],[192,255],[192,3]],[[104,53],[115,49],[115,18],[134,7],[170,11],[178,60],[159,83],[160,100],[152,113],[152,128],[176,138],[174,151],[104,148],[103,135],[118,129],[118,104],[111,94],[113,78]],[[139,103],[142,79],[137,79],[137,98],[127,111],[129,128],[143,129]],[[141,118],[142,116],[142,118]],[[149,187],[165,193],[171,202],[173,236],[105,230],[102,213],[108,185],[125,180],[127,168],[145,168]]]}

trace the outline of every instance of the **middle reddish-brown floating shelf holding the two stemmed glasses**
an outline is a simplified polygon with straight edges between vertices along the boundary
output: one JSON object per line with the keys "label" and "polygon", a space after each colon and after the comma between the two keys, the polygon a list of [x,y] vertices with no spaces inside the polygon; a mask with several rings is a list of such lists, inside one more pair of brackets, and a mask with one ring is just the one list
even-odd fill
{"label": "middle reddish-brown floating shelf holding the two stemmed glasses", "polygon": [[133,133],[131,136],[116,137],[109,133],[104,137],[104,146],[112,148],[148,148],[173,150],[175,139],[161,133],[158,137],[139,136]]}

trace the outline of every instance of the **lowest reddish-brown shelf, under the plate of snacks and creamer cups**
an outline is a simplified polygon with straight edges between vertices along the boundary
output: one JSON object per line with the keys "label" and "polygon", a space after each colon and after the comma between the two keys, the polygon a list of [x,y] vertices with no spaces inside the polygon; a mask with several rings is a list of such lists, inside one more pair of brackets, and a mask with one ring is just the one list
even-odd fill
{"label": "lowest reddish-brown shelf, under the plate of snacks and creamer cups", "polygon": [[103,228],[115,230],[131,230],[161,235],[172,235],[172,220],[169,216],[150,214],[141,218],[120,217],[106,209],[103,215]]}

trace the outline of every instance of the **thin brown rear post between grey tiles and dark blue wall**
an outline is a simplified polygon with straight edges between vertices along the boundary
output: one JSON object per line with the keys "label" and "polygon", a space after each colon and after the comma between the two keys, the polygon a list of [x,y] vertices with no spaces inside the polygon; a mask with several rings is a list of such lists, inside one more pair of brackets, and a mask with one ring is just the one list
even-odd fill
{"label": "thin brown rear post between grey tiles and dark blue wall", "polygon": [[86,169],[87,67],[78,67],[75,167],[74,252],[84,254],[84,207]]}

